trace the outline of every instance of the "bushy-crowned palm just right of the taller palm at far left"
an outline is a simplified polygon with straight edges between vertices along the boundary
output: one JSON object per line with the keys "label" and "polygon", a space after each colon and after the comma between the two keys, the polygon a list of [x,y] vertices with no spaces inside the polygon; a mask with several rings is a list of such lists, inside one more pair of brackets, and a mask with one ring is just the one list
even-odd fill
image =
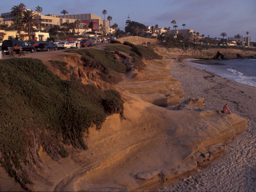
{"label": "bushy-crowned palm just right of the taller palm at far left", "polygon": [[28,39],[31,40],[31,31],[33,26],[38,26],[38,20],[34,19],[34,16],[38,16],[33,10],[23,10],[21,16],[21,22],[28,29]]}

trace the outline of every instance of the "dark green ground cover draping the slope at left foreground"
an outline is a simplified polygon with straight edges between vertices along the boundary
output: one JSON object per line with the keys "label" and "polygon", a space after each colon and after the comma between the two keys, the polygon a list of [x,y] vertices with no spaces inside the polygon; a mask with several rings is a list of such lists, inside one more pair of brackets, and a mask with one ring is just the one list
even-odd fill
{"label": "dark green ground cover draping the slope at left foreground", "polygon": [[54,160],[68,156],[65,144],[85,150],[88,128],[113,113],[123,113],[115,90],[61,80],[37,59],[0,60],[0,163],[26,190],[40,146]]}

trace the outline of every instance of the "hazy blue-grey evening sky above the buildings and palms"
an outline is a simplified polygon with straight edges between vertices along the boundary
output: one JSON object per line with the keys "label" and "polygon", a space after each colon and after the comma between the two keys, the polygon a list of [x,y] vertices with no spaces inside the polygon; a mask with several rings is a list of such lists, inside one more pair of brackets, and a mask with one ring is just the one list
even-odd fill
{"label": "hazy blue-grey evening sky above the buildings and palms", "polygon": [[130,20],[146,26],[171,27],[175,20],[178,29],[192,29],[205,36],[221,38],[226,32],[228,37],[236,34],[251,37],[256,42],[256,0],[0,0],[0,13],[10,12],[12,6],[21,2],[26,8],[43,8],[42,14],[62,15],[92,13],[101,16],[107,11],[106,18],[112,16],[110,24],[117,23],[124,30],[128,15]]}

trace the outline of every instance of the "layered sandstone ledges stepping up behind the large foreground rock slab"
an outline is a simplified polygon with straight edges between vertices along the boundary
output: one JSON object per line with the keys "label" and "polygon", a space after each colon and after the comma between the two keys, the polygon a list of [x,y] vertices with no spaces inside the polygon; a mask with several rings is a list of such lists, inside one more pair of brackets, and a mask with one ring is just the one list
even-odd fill
{"label": "layered sandstone ledges stepping up behind the large foreground rock slab", "polygon": [[179,104],[183,92],[180,83],[168,74],[169,60],[144,62],[146,63],[144,71],[129,72],[126,79],[116,86],[157,106]]}

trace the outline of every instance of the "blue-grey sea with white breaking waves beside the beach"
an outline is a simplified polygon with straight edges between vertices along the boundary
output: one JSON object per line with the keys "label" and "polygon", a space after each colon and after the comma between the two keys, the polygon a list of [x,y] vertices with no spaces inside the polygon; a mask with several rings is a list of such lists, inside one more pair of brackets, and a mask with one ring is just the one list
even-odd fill
{"label": "blue-grey sea with white breaking waves beside the beach", "polygon": [[256,87],[256,59],[198,60],[188,59],[190,66],[213,72],[221,77]]}

